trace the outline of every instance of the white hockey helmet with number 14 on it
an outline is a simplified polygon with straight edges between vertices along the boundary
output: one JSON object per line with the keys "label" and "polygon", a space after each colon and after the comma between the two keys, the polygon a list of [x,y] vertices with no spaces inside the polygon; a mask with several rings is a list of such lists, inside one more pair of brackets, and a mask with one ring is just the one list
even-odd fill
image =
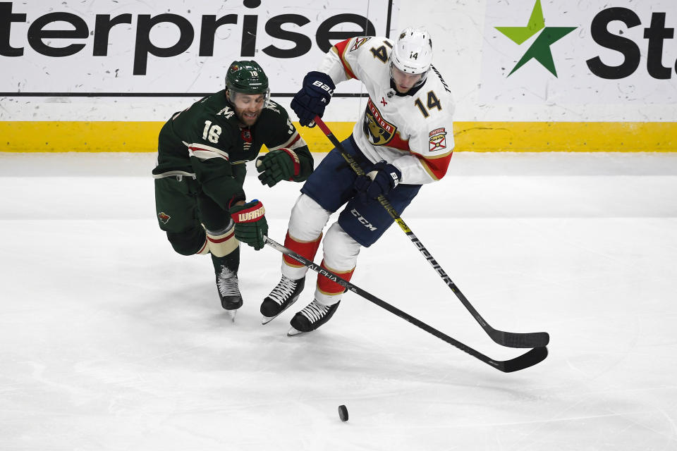
{"label": "white hockey helmet with number 14 on it", "polygon": [[427,31],[407,27],[400,33],[390,54],[391,65],[410,74],[425,76],[432,63],[432,39]]}

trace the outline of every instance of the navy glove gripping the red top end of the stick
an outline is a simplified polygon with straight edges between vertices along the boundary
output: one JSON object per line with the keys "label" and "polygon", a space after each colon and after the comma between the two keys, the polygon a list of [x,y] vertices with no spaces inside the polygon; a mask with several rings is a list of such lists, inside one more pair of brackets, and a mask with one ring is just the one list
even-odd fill
{"label": "navy glove gripping the red top end of the stick", "polygon": [[[291,109],[298,116],[298,123],[314,127],[315,116],[322,117],[336,85],[326,73],[312,71],[303,78],[303,87],[291,100]],[[311,125],[312,123],[312,125]]]}

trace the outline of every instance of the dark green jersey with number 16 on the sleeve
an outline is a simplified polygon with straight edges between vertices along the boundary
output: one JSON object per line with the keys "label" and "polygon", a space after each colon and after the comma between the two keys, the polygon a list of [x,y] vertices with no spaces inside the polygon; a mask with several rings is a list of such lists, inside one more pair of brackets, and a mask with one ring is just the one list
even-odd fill
{"label": "dark green jersey with number 16 on the sleeve", "polygon": [[300,171],[294,181],[302,182],[312,172],[312,155],[282,106],[270,101],[256,123],[245,127],[224,89],[174,113],[164,124],[153,175],[192,176],[202,191],[228,209],[228,201],[242,192],[243,163],[256,159],[263,145],[291,149],[298,156]]}

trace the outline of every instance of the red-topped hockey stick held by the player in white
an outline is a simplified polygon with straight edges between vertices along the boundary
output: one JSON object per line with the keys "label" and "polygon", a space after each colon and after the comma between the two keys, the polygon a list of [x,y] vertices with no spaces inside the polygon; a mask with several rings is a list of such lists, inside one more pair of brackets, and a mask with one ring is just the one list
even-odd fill
{"label": "red-topped hockey stick held by the player in white", "polygon": [[[322,129],[322,132],[324,132],[324,135],[327,135],[329,138],[329,141],[331,141],[331,144],[334,144],[334,147],[338,150],[338,152],[341,152],[341,155],[343,156],[343,159],[345,159],[348,164],[350,165],[351,168],[353,168],[353,171],[357,173],[358,175],[364,175],[365,171],[362,171],[362,168],[360,168],[360,165],[353,159],[348,152],[346,152],[346,149],[343,149],[343,146],[341,145],[341,142],[338,142],[334,134],[329,130],[327,127],[327,124],[322,121],[322,118],[319,116],[315,116],[315,123],[319,125],[319,128]],[[411,231],[411,229],[407,226],[407,224],[403,221],[403,219],[400,217],[400,215],[397,213],[397,211],[393,208],[391,205],[390,201],[386,199],[386,197],[381,194],[378,199],[379,203],[383,206],[386,211],[392,216],[392,218],[395,220],[395,222],[400,226],[400,228],[403,230],[403,232],[409,237],[411,242],[414,243],[416,246],[416,249],[418,249],[421,254],[423,254],[423,257],[428,261],[428,263],[434,268],[434,270],[439,274],[439,276],[444,280],[444,283],[446,283],[449,288],[451,288],[451,291],[453,291],[453,294],[458,297],[459,300],[463,303],[466,309],[470,311],[470,314],[475,317],[475,320],[477,323],[480,323],[480,326],[484,329],[484,332],[489,335],[494,342],[498,343],[501,346],[508,346],[508,347],[544,347],[547,346],[548,343],[550,342],[550,335],[547,332],[531,332],[531,333],[517,333],[517,332],[505,332],[503,330],[496,330],[492,326],[489,326],[489,323],[482,318],[480,313],[475,310],[475,307],[472,307],[472,304],[470,304],[470,301],[463,295],[461,290],[458,289],[455,283],[451,280],[449,276],[446,275],[446,272],[444,272],[444,269],[442,269],[441,266],[439,266],[439,263],[432,257],[432,254],[428,252],[428,249],[425,248],[422,242],[414,235],[414,233]]]}

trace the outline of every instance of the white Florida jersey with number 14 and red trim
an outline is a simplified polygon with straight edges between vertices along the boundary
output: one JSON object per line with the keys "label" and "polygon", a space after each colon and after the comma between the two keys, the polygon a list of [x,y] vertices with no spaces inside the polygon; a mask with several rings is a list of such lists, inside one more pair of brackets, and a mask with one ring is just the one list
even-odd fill
{"label": "white Florida jersey with number 14 and red trim", "polygon": [[362,153],[396,166],[401,183],[431,183],[444,177],[453,152],[451,91],[432,67],[423,85],[399,94],[391,85],[392,48],[385,37],[353,37],[331,47],[319,71],[336,85],[355,78],[367,88],[364,119],[353,129]]}

